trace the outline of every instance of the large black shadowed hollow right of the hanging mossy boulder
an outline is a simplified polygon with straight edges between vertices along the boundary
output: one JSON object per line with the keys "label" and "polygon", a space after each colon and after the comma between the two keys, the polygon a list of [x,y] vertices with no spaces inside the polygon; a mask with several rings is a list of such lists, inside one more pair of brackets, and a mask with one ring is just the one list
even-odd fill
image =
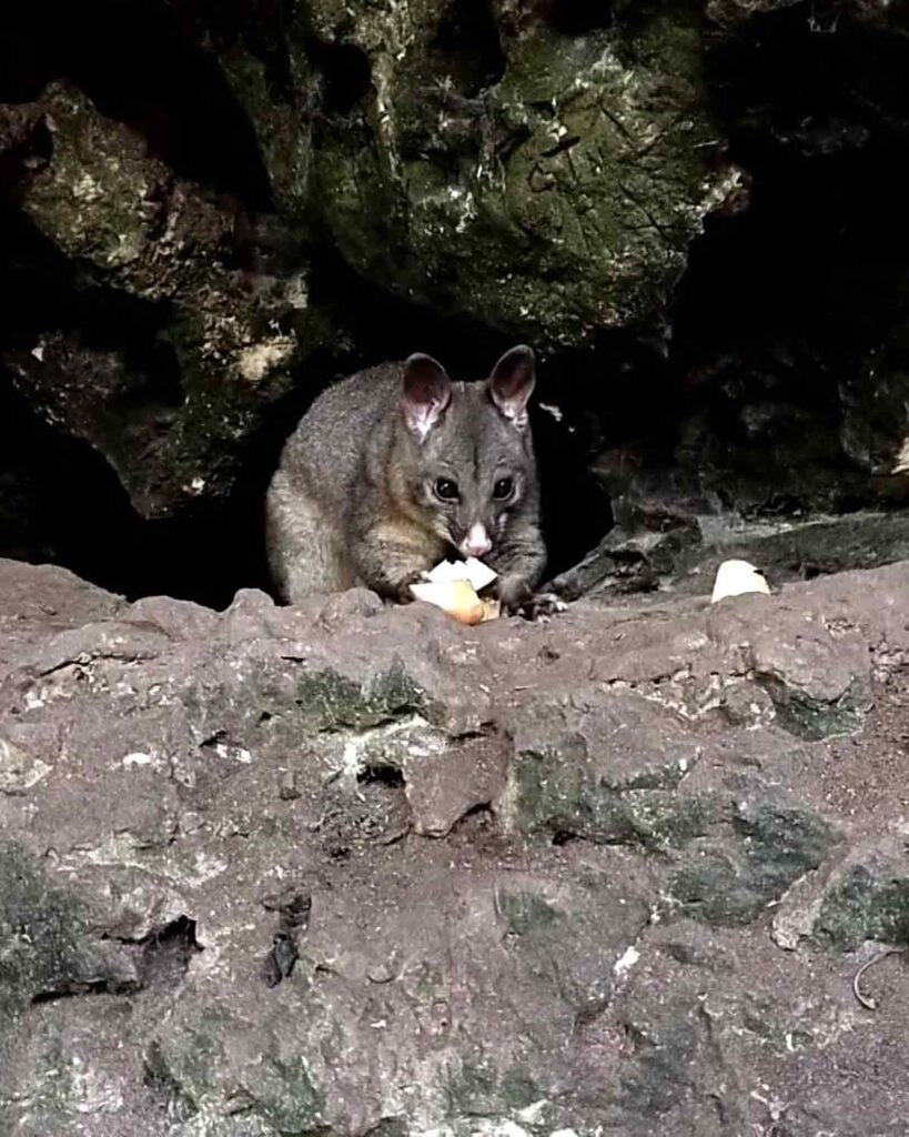
{"label": "large black shadowed hollow right of the hanging mossy boulder", "polygon": [[747,513],[885,504],[868,451],[900,409],[887,368],[906,370],[909,40],[801,2],[707,48],[748,204],[707,219],[676,288],[668,363],[679,423],[700,425],[670,460]]}

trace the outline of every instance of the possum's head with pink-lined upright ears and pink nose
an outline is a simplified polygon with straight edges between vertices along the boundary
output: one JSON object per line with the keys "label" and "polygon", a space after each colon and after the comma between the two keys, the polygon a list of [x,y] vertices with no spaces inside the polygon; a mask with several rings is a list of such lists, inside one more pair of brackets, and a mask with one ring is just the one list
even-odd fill
{"label": "possum's head with pink-lined upright ears and pink nose", "polygon": [[534,382],[534,355],[523,345],[478,383],[452,383],[425,355],[403,365],[407,495],[426,528],[462,556],[490,556],[509,520],[536,507],[527,421]]}

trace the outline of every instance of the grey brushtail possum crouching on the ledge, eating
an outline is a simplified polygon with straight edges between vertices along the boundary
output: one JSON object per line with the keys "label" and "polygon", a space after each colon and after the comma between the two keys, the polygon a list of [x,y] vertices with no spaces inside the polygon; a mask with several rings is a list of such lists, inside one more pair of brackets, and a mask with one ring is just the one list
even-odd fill
{"label": "grey brushtail possum crouching on the ledge, eating", "polygon": [[454,383],[412,355],[324,391],[268,488],[268,561],[283,598],[361,584],[407,601],[410,584],[454,553],[499,573],[508,611],[545,607],[534,595],[545,567],[534,382],[533,351],[520,346],[481,382]]}

